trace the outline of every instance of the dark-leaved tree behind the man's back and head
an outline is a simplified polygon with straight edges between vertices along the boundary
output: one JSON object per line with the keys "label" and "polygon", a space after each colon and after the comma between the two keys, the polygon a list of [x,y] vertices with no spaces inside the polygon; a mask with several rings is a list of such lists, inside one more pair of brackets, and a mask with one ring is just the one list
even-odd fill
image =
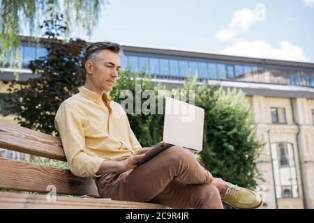
{"label": "dark-leaved tree behind the man's back and head", "polygon": [[85,79],[82,52],[87,43],[57,39],[59,33],[66,31],[61,21],[57,15],[56,20],[45,21],[41,26],[46,29],[43,45],[47,56],[29,63],[29,69],[39,77],[10,82],[8,89],[10,112],[17,114],[18,123],[48,134],[54,133],[54,116],[61,102],[77,93]]}

